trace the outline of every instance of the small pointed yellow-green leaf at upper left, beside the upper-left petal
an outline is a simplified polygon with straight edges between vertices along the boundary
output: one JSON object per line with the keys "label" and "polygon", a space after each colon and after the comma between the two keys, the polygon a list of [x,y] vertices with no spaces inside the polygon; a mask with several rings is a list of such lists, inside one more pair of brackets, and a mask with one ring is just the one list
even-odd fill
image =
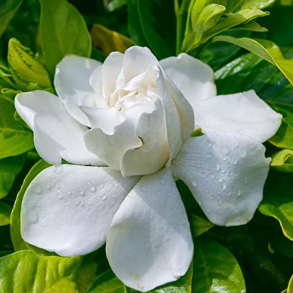
{"label": "small pointed yellow-green leaf at upper left, beside the upper-left petal", "polygon": [[16,39],[8,43],[8,64],[17,87],[27,91],[30,83],[42,88],[52,87],[49,74],[35,54]]}

